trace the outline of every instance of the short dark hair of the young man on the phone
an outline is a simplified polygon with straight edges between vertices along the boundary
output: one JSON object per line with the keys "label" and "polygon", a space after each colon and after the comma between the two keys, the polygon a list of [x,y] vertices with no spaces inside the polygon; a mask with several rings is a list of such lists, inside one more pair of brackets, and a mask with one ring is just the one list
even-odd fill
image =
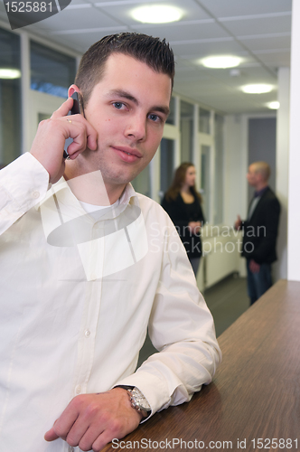
{"label": "short dark hair of the young man on the phone", "polygon": [[123,53],[145,62],[155,72],[174,78],[173,51],[165,40],[142,33],[118,33],[105,36],[84,53],[75,78],[84,102],[88,102],[94,86],[101,80],[105,63],[112,53]]}

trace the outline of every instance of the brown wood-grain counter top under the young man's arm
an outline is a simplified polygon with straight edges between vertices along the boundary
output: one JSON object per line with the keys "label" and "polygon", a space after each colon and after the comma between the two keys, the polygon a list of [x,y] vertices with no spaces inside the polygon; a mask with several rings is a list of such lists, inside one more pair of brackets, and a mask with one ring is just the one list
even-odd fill
{"label": "brown wood-grain counter top under the young man's arm", "polygon": [[300,283],[278,281],[219,344],[210,385],[105,451],[300,450]]}

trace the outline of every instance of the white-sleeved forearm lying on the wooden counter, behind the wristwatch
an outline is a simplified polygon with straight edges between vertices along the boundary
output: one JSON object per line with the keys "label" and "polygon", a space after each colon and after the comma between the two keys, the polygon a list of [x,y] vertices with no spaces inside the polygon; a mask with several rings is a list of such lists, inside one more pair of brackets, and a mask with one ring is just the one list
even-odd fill
{"label": "white-sleeved forearm lying on the wooden counter, behind the wristwatch", "polygon": [[203,344],[192,341],[170,345],[150,356],[136,373],[117,384],[133,385],[142,391],[152,415],[170,405],[189,401],[202,384],[211,382],[220,363],[219,348],[207,344],[202,347]]}

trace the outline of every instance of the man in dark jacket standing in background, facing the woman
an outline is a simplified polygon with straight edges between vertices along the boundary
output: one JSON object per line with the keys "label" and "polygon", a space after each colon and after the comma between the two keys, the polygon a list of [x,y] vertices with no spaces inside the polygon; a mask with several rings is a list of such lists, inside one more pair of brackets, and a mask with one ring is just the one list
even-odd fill
{"label": "man in dark jacket standing in background, facing the woman", "polygon": [[248,218],[238,215],[235,229],[243,231],[242,256],[247,259],[248,296],[252,305],[272,286],[271,264],[277,260],[276,242],[280,204],[268,186],[270,167],[254,162],[248,167],[248,184],[255,188]]}

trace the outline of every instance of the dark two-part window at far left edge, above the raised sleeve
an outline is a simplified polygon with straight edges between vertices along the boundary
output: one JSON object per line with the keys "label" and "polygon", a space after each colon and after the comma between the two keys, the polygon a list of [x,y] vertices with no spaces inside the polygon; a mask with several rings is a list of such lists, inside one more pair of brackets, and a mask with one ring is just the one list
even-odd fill
{"label": "dark two-part window at far left edge, above the raised sleeve", "polygon": [[[0,29],[0,67],[21,71],[20,61],[19,35]],[[21,111],[21,78],[0,79],[0,167],[21,155]]]}

